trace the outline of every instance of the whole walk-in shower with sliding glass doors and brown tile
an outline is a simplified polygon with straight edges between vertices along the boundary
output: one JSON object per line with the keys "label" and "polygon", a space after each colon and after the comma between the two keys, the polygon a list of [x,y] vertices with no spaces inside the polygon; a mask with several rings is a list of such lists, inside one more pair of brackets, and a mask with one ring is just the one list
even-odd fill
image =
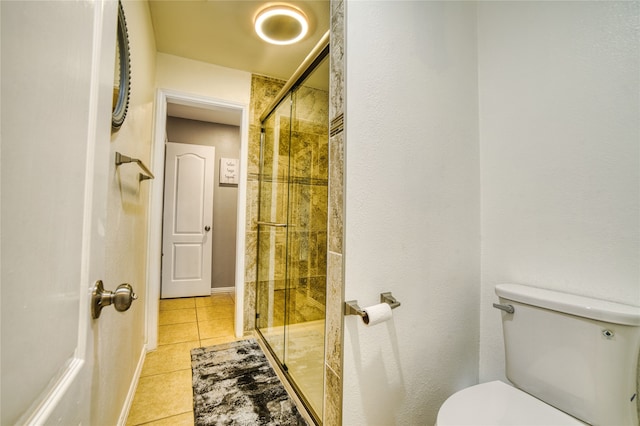
{"label": "whole walk-in shower with sliding glass doors and brown tile", "polygon": [[256,329],[321,423],[327,267],[328,37],[261,117]]}

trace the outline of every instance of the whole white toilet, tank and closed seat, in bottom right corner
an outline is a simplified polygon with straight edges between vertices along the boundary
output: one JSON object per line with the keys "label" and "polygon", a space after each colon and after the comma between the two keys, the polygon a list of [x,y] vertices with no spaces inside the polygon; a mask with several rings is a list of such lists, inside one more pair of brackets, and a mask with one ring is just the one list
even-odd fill
{"label": "whole white toilet, tank and closed seat, in bottom right corner", "polygon": [[437,426],[638,426],[640,307],[517,284],[496,294],[513,385],[455,393]]}

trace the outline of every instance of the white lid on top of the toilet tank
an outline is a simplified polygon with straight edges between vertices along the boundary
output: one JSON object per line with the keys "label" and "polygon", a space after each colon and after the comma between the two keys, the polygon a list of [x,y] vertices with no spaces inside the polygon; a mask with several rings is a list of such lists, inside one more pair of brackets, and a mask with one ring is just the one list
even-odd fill
{"label": "white lid on top of the toilet tank", "polygon": [[640,326],[640,306],[593,299],[522,284],[498,284],[495,291],[499,297],[514,302],[612,324]]}

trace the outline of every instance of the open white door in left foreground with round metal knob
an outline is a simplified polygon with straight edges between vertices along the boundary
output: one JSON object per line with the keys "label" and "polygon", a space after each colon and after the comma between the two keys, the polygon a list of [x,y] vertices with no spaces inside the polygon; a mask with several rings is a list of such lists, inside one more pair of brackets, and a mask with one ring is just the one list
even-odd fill
{"label": "open white door in left foreground with round metal knob", "polygon": [[[0,2],[0,424],[97,424],[117,2]],[[114,407],[119,409],[120,407]]]}

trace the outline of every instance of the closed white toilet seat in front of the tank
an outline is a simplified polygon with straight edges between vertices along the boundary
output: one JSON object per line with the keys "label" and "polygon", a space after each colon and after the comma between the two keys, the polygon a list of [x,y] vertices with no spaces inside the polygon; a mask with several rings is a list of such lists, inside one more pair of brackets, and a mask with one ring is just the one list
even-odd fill
{"label": "closed white toilet seat in front of the tank", "polygon": [[451,395],[438,411],[437,426],[584,426],[539,399],[500,381],[471,386]]}

